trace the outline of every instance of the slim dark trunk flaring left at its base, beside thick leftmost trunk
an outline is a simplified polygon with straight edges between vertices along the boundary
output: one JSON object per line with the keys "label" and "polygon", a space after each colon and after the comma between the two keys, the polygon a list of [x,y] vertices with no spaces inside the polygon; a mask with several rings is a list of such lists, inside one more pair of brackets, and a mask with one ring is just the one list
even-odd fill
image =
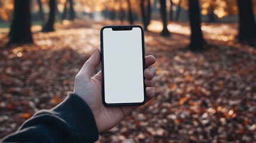
{"label": "slim dark trunk flaring left at its base, beside thick leftmost trunk", "polygon": [[49,1],[50,13],[47,23],[42,29],[42,32],[53,32],[54,31],[54,18],[55,18],[55,0]]}

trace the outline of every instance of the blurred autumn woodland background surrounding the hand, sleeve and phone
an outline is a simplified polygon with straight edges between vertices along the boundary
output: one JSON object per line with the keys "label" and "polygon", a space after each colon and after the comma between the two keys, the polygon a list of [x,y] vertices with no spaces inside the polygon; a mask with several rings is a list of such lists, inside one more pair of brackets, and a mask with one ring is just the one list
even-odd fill
{"label": "blurred autumn woodland background surrounding the hand, sleeve and phone", "polygon": [[102,26],[140,24],[156,95],[98,142],[256,142],[255,14],[255,0],[0,0],[0,138],[73,91]]}

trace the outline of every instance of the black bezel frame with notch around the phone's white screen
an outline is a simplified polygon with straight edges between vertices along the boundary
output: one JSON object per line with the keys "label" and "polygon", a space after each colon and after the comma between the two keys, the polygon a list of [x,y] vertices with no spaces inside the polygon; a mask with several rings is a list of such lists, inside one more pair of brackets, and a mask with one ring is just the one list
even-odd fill
{"label": "black bezel frame with notch around the phone's white screen", "polygon": [[129,103],[107,103],[105,101],[105,92],[104,92],[104,48],[103,48],[103,30],[104,29],[107,29],[107,28],[116,28],[116,29],[119,29],[119,30],[122,30],[122,29],[131,29],[133,27],[138,27],[141,29],[141,43],[142,43],[142,47],[141,47],[141,50],[142,50],[142,61],[143,61],[143,72],[144,70],[146,69],[146,66],[145,66],[145,45],[144,45],[144,30],[143,30],[143,27],[141,27],[140,25],[114,25],[114,26],[103,26],[100,30],[100,57],[101,57],[101,95],[102,95],[102,102],[105,106],[115,106],[115,105],[143,105],[145,104],[146,102],[146,85],[145,85],[145,77],[144,77],[144,73],[141,73],[143,74],[143,87],[144,87],[144,100],[143,102],[129,102]]}

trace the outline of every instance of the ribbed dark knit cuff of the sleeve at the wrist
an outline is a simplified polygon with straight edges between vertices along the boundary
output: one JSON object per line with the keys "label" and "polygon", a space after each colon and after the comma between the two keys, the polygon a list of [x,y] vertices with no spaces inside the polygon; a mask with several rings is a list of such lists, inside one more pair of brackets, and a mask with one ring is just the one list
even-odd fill
{"label": "ribbed dark knit cuff of the sleeve at the wrist", "polygon": [[73,130],[78,132],[81,142],[98,140],[98,129],[90,107],[82,98],[69,92],[67,98],[52,109],[56,116],[65,120]]}

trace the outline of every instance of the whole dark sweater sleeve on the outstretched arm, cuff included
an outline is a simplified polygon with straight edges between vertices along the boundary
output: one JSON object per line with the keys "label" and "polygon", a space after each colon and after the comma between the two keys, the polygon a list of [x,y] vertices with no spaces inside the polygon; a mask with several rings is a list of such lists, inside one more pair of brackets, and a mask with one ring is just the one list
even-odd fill
{"label": "whole dark sweater sleeve on the outstretched arm, cuff included", "polygon": [[38,111],[2,142],[95,142],[98,130],[90,107],[70,92],[51,110]]}

